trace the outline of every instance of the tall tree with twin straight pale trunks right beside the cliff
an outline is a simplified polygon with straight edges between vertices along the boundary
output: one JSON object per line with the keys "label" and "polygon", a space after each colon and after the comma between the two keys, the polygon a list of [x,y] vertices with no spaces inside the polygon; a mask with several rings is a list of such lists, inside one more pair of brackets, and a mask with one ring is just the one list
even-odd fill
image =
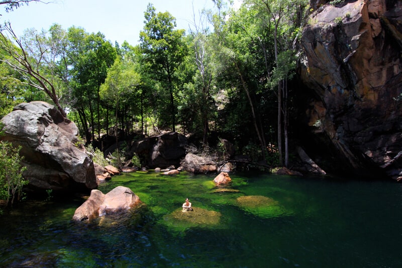
{"label": "tall tree with twin straight pale trunks right beside the cliff", "polygon": [[[265,62],[267,63],[266,48],[272,48],[275,65],[266,64],[268,87],[277,87],[277,142],[279,153],[279,165],[283,165],[282,140],[285,142],[285,166],[288,166],[288,89],[287,79],[295,68],[295,58],[292,50],[300,22],[295,18],[300,18],[300,12],[306,7],[306,0],[246,0],[245,5],[250,10],[254,10],[255,16],[260,21],[258,27],[262,31],[269,31],[273,36],[272,45],[264,45],[263,48]],[[292,47],[293,45],[293,47]],[[283,134],[282,134],[283,130]],[[283,137],[284,136],[284,137]]]}

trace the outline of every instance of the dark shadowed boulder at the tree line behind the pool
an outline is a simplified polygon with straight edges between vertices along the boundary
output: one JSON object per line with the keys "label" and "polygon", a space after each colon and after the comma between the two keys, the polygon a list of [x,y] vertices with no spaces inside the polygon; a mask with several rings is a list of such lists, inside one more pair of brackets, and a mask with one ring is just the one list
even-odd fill
{"label": "dark shadowed boulder at the tree line behind the pool", "polygon": [[177,132],[166,132],[136,142],[131,148],[129,158],[136,153],[143,164],[150,169],[157,167],[178,167],[185,156],[187,138]]}

